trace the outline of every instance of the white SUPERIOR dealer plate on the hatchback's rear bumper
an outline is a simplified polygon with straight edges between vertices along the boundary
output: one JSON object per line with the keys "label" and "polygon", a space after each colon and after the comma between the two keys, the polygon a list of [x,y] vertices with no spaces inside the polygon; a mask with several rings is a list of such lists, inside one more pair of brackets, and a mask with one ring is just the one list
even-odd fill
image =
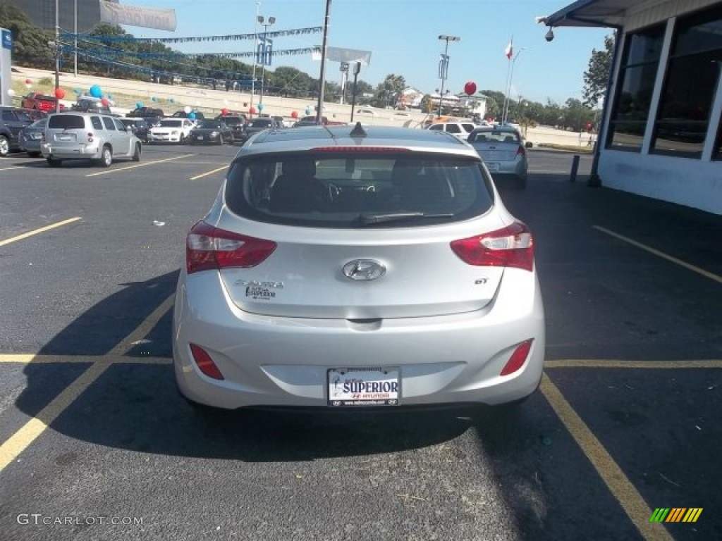
{"label": "white SUPERIOR dealer plate on the hatchback's rear bumper", "polygon": [[332,368],[327,372],[330,406],[398,405],[398,368]]}

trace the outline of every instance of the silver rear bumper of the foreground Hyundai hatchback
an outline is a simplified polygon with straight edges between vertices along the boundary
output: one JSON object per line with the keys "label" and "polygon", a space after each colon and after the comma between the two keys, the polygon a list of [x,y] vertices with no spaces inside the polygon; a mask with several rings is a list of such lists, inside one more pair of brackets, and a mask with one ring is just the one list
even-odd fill
{"label": "silver rear bumper of the foreground Hyundai hatchback", "polygon": [[[526,283],[522,295],[520,283]],[[516,346],[529,339],[534,341],[523,366],[500,376]],[[209,353],[225,379],[200,371],[191,343]],[[232,304],[218,273],[182,273],[173,317],[179,390],[193,401],[230,409],[326,407],[328,369],[378,366],[399,367],[400,405],[506,403],[536,390],[544,346],[544,309],[531,275],[500,286],[492,306],[477,312],[364,327],[249,314]]]}

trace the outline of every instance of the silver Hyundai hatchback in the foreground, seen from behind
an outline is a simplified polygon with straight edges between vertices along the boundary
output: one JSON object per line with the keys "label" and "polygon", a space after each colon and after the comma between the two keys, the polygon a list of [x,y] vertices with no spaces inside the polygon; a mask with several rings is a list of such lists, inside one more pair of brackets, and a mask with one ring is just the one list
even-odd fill
{"label": "silver Hyundai hatchback in the foreground, seen from behind", "polygon": [[456,138],[264,131],[188,233],[173,357],[217,408],[515,403],[544,360],[534,240]]}

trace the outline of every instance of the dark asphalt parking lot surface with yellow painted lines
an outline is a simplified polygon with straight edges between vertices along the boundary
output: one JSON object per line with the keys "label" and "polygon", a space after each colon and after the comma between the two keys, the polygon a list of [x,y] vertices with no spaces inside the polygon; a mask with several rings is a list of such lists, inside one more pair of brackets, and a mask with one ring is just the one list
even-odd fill
{"label": "dark asphalt parking lot surface with yellow painted lines", "polygon": [[535,149],[502,192],[547,315],[516,413],[208,420],[175,392],[170,310],[237,150],[0,160],[0,538],[722,539],[722,216],[588,188],[589,157],[570,182],[570,154]]}

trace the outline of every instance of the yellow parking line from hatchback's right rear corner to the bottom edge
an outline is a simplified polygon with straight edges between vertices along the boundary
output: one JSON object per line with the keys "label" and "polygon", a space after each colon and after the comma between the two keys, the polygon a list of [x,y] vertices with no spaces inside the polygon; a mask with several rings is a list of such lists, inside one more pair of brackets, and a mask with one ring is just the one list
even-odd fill
{"label": "yellow parking line from hatchback's right rear corner to the bottom edge", "polygon": [[574,408],[567,402],[551,379],[544,374],[541,377],[541,392],[546,397],[554,413],[560,418],[569,431],[569,434],[577,442],[583,453],[591,462],[591,465],[599,473],[599,476],[606,484],[614,498],[617,498],[622,509],[629,516],[632,524],[637,527],[645,540],[671,541],[672,537],[661,524],[650,523],[649,517],[652,510],[637,491],[632,482],[622,472],[622,468],[614,462],[612,455],[604,449],[599,439],[592,433],[582,418],[575,412]]}

